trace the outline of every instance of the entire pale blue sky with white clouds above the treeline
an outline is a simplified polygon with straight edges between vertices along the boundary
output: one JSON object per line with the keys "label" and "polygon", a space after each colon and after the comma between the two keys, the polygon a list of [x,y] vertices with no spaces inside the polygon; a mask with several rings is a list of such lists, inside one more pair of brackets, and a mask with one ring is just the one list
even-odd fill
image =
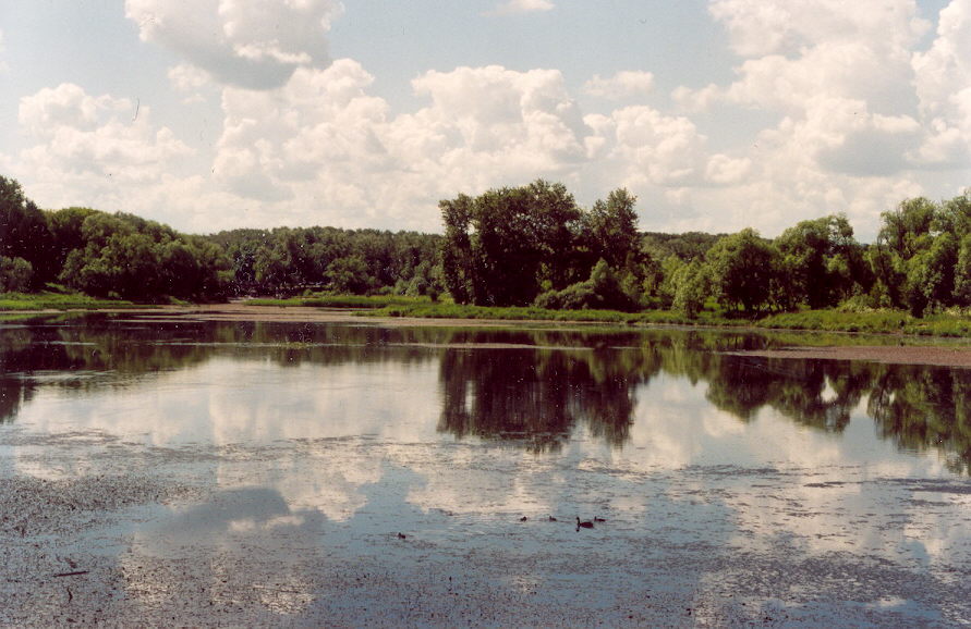
{"label": "entire pale blue sky with white clouds above the treeline", "polygon": [[189,233],[562,182],[776,236],[971,186],[971,0],[4,0],[0,174]]}

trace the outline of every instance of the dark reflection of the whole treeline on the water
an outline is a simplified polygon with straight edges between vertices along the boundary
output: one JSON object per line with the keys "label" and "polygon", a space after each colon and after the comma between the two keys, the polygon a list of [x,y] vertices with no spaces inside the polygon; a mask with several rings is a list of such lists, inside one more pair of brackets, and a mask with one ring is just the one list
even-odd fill
{"label": "dark reflection of the whole treeline on the water", "polygon": [[[967,371],[721,353],[761,348],[768,342],[754,334],[694,331],[149,324],[109,317],[10,324],[0,326],[0,421],[13,421],[44,388],[85,399],[96,392],[133,387],[146,379],[213,365],[217,359],[228,374],[242,365],[318,370],[368,366],[373,368],[368,373],[384,374],[386,384],[391,372],[421,368],[437,370],[437,391],[433,385],[405,393],[439,400],[436,428],[441,434],[556,452],[582,429],[605,445],[622,448],[630,441],[640,396],[664,374],[702,385],[712,407],[741,422],[773,409],[799,425],[840,434],[862,406],[882,439],[907,452],[936,452],[955,472],[971,471],[971,378]],[[344,373],[349,386],[359,391],[373,386],[354,380],[361,377],[352,371],[320,371],[319,377],[333,384]],[[279,391],[240,392],[241,398],[250,395],[268,399],[265,406],[286,406],[284,396],[294,392],[286,375],[278,378]],[[406,388],[414,383],[390,386]],[[255,398],[251,402],[259,407]],[[233,414],[238,422],[247,417],[253,422],[262,419],[241,408]],[[313,430],[296,432],[308,436]]]}

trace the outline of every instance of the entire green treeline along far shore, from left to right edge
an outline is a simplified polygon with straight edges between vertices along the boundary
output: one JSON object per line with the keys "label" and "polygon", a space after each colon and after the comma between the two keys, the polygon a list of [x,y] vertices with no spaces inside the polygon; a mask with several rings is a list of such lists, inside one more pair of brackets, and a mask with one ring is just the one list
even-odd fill
{"label": "entire green treeline along far shore, from left to right edge", "polygon": [[704,308],[757,316],[797,308],[971,307],[971,188],[901,201],[876,240],[846,215],[776,238],[642,233],[619,188],[581,208],[560,183],[459,194],[444,234],[278,227],[187,235],[128,213],[41,210],[0,176],[0,291],[59,284],[96,297],[220,300],[306,292],[430,296],[550,309]]}

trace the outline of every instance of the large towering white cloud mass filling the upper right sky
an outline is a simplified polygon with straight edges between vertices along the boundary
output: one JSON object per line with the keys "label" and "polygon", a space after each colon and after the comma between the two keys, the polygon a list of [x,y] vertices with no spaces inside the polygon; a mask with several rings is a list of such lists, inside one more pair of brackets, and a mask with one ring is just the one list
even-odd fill
{"label": "large towering white cloud mass filling the upper right sky", "polygon": [[921,52],[928,23],[910,0],[712,0],[739,55],[735,79],[681,86],[672,100],[723,120],[741,108],[764,126],[739,155],[707,162],[724,188],[669,198],[731,208],[733,226],[769,234],[793,215],[846,211],[872,236],[895,198],[926,194],[922,169],[969,163],[969,8],[951,0]]}

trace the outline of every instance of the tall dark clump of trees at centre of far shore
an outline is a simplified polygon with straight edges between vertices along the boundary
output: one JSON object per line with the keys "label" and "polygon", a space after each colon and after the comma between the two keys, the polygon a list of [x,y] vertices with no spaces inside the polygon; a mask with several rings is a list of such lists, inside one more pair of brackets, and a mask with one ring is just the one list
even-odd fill
{"label": "tall dark clump of trees at centre of far shore", "polygon": [[617,189],[584,212],[562,184],[543,180],[442,200],[444,283],[458,304],[522,306],[544,293],[544,301],[597,307],[599,297],[584,279],[603,259],[627,301],[636,303],[650,258],[641,248],[635,201]]}

